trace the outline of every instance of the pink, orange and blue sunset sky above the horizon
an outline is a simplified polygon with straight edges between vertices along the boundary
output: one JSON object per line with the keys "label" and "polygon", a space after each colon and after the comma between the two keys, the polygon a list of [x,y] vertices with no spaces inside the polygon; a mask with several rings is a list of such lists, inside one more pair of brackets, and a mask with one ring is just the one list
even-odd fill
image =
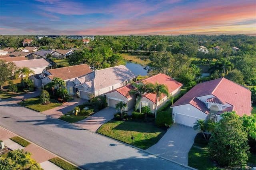
{"label": "pink, orange and blue sunset sky above the horizon", "polygon": [[0,34],[256,36],[256,0],[0,0]]}

